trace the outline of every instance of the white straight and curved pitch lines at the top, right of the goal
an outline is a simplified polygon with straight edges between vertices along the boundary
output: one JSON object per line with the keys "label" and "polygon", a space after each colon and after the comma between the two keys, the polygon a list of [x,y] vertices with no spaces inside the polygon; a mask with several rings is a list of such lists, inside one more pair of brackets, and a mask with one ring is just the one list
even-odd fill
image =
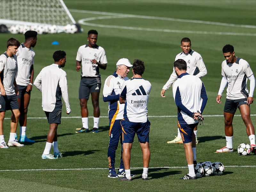
{"label": "white straight and curved pitch lines at the top, right of the goal", "polygon": [[91,18],[85,18],[85,19],[78,20],[79,24],[87,25],[87,26],[94,26],[94,27],[121,28],[121,29],[129,29],[129,30],[143,30],[143,31],[170,32],[170,33],[193,33],[193,34],[196,33],[196,34],[209,34],[209,35],[256,36],[255,33],[228,33],[228,32],[187,31],[187,30],[156,29],[156,28],[136,28],[136,27],[127,27],[127,26],[94,24],[94,23],[87,23],[85,21],[114,19],[114,18],[142,18],[142,19],[168,20],[168,21],[177,21],[177,22],[201,23],[201,24],[209,24],[209,25],[221,25],[221,26],[242,27],[242,28],[256,28],[256,26],[254,26],[254,25],[237,25],[237,24],[231,24],[231,23],[220,23],[220,22],[201,21],[201,20],[187,20],[187,19],[167,18],[167,17],[154,17],[154,16],[132,15],[132,14],[122,14],[122,13],[111,13],[111,12],[98,12],[98,11],[87,11],[87,10],[75,10],[75,9],[70,9],[69,11],[101,14],[101,15],[111,15],[111,16],[91,17]]}

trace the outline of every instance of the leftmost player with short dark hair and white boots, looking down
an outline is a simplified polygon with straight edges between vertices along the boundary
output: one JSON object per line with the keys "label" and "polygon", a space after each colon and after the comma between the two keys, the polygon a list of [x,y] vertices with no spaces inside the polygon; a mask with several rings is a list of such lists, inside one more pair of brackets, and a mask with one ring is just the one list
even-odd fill
{"label": "leftmost player with short dark hair and white boots, looking down", "polygon": [[[17,96],[19,94],[15,81],[17,73],[17,56],[20,42],[14,38],[7,41],[7,51],[0,55],[0,148],[23,147],[15,138],[20,116]],[[4,117],[6,110],[12,111],[11,132],[8,146],[4,141]]]}

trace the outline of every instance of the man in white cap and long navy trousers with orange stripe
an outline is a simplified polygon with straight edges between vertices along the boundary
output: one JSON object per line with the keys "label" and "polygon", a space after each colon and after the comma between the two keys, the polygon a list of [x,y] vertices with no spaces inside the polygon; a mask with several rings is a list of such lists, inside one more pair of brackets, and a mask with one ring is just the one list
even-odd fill
{"label": "man in white cap and long navy trousers with orange stripe", "polygon": [[[120,104],[119,95],[124,81],[129,80],[127,74],[132,64],[126,58],[120,59],[116,63],[116,72],[108,76],[103,87],[103,101],[108,102],[108,118],[109,118],[109,144],[108,144],[108,168],[109,178],[117,178],[124,176],[124,163],[122,158],[123,144],[121,140],[122,127],[120,121],[124,115],[124,104]],[[118,174],[115,170],[116,149],[119,143],[122,145],[121,162]]]}

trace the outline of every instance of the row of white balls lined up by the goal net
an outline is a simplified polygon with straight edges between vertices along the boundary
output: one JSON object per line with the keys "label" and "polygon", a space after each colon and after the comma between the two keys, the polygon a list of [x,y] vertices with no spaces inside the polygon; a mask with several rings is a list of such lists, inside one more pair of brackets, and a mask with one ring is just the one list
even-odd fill
{"label": "row of white balls lined up by the goal net", "polygon": [[[36,31],[37,34],[43,34],[43,33],[57,33],[58,32],[58,27],[56,25],[48,26],[48,25],[34,25],[34,26],[27,26],[27,25],[12,25],[9,31],[12,34],[24,34],[26,31],[32,30]],[[66,25],[64,27],[64,32],[65,33],[71,33],[74,34],[77,32],[77,27],[76,25]]]}

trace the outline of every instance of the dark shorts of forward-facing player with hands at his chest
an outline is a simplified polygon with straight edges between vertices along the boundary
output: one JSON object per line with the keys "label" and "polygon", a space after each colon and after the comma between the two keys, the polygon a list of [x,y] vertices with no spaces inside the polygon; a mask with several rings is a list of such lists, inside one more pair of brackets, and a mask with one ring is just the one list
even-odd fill
{"label": "dark shorts of forward-facing player with hands at his chest", "polygon": [[100,77],[82,77],[79,87],[79,99],[89,99],[90,93],[100,92]]}

